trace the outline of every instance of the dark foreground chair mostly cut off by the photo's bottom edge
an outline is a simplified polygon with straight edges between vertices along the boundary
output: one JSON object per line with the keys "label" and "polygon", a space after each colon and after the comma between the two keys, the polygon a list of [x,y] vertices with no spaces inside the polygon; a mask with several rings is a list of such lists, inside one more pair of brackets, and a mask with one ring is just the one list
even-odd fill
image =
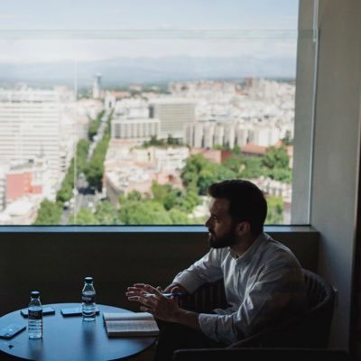
{"label": "dark foreground chair mostly cut off by the photo's bottom edge", "polygon": [[276,347],[243,347],[243,348],[198,348],[180,349],[174,352],[172,361],[350,361],[347,352],[329,348],[276,348]]}

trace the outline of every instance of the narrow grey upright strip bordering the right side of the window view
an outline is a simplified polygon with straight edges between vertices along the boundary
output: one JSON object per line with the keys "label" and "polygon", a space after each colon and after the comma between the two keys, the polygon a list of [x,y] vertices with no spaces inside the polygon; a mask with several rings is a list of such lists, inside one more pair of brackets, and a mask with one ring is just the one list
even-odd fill
{"label": "narrow grey upright strip bordering the right side of the window view", "polygon": [[317,42],[313,41],[314,0],[300,0],[292,169],[292,224],[310,224],[310,174]]}

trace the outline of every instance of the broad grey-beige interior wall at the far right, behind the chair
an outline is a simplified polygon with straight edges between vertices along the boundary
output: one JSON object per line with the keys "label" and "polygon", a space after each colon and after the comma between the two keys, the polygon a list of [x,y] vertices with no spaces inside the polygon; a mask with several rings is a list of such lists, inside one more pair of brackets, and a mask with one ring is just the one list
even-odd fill
{"label": "broad grey-beige interior wall at the far right, behind the chair", "polygon": [[319,273],[338,289],[331,347],[348,348],[359,162],[361,2],[319,1],[319,68],[310,224]]}

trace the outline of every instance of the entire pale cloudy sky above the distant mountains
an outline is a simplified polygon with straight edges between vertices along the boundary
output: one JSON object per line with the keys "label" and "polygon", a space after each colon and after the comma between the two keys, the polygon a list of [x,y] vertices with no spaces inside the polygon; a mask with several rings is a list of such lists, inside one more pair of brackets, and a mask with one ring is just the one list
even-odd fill
{"label": "entire pale cloudy sky above the distant mountains", "polygon": [[0,63],[296,57],[298,0],[0,3]]}

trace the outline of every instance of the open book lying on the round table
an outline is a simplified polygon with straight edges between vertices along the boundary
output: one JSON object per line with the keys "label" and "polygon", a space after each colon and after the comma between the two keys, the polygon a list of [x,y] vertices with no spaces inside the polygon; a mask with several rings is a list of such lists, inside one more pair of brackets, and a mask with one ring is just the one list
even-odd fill
{"label": "open book lying on the round table", "polygon": [[159,329],[148,312],[103,312],[109,337],[157,336]]}

